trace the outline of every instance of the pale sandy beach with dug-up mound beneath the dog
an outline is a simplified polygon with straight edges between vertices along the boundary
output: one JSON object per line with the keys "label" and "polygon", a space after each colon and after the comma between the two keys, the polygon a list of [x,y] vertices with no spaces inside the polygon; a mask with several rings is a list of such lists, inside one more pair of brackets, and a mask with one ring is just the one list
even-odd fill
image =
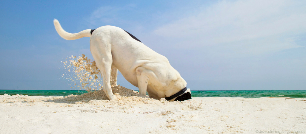
{"label": "pale sandy beach with dug-up mound beneath the dog", "polygon": [[0,95],[0,133],[306,131],[306,99],[207,97],[168,102],[133,92],[127,96],[115,93],[118,99],[109,101],[99,96],[102,93],[65,97]]}

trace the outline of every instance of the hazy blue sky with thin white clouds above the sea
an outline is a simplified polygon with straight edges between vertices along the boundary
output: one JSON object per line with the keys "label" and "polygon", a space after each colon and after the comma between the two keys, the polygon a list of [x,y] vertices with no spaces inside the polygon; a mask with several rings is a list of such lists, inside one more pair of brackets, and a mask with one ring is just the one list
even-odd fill
{"label": "hazy blue sky with thin white clouds above the sea", "polygon": [[[59,61],[85,54],[76,33],[121,27],[168,58],[191,90],[306,89],[306,2],[1,1],[0,89],[70,89]],[[138,90],[121,74],[118,84]]]}

